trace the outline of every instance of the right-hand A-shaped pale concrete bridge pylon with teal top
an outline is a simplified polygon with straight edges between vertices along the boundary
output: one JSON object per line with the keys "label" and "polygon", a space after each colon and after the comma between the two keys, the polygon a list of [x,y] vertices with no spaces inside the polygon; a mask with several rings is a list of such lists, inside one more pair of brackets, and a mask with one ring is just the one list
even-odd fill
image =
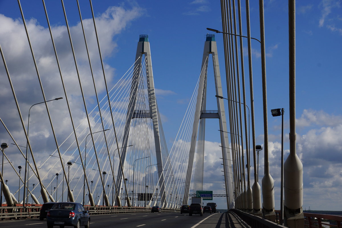
{"label": "right-hand A-shaped pale concrete bridge pylon with teal top", "polygon": [[[195,118],[194,118],[194,123],[193,123],[193,133],[191,137],[183,203],[186,204],[186,202],[188,202],[197,135],[198,135],[197,156],[204,157],[204,142],[205,142],[204,138],[205,138],[205,124],[206,124],[205,119],[206,118],[218,118],[220,134],[221,134],[220,136],[221,136],[221,146],[222,146],[221,148],[222,148],[222,156],[223,156],[222,158],[223,158],[223,171],[224,171],[224,178],[225,178],[225,189],[227,192],[227,207],[233,208],[234,199],[233,199],[232,158],[231,158],[231,152],[228,150],[229,142],[228,142],[228,134],[227,134],[226,113],[224,110],[223,99],[216,97],[217,108],[218,108],[217,111],[206,110],[207,66],[208,66],[210,54],[212,55],[212,61],[213,61],[216,95],[221,96],[221,97],[223,96],[215,35],[207,34],[206,41],[204,44],[202,67],[201,67],[202,71],[204,71],[202,72],[204,73],[204,83],[203,83],[203,88],[200,88],[201,86],[199,86],[198,92],[197,92],[196,112],[195,112]],[[199,118],[196,118],[198,116]],[[203,161],[204,159],[201,159],[201,162]],[[199,166],[203,167],[203,165],[199,165]],[[197,186],[197,188],[202,188],[202,187],[203,187],[203,183],[201,186]],[[202,189],[196,189],[196,190],[202,190]]]}

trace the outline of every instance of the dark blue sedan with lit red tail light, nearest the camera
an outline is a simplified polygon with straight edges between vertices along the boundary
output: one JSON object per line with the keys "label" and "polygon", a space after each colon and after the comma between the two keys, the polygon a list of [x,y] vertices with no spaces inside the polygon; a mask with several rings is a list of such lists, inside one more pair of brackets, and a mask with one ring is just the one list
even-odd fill
{"label": "dark blue sedan with lit red tail light, nearest the camera", "polygon": [[89,211],[82,204],[73,202],[58,202],[53,205],[46,216],[48,228],[53,226],[90,227]]}

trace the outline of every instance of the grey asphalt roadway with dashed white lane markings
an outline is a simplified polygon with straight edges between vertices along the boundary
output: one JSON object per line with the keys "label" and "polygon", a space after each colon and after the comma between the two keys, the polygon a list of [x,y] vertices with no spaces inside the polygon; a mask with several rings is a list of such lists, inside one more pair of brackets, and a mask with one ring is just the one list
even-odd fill
{"label": "grey asphalt roadway with dashed white lane markings", "polygon": [[[226,224],[227,222],[227,224]],[[226,213],[205,213],[203,216],[180,214],[175,212],[162,213],[126,213],[90,215],[91,228],[129,228],[129,227],[153,227],[153,228],[223,228],[228,225],[229,218]],[[46,228],[46,219],[4,220],[0,221],[0,227],[6,228]],[[59,227],[59,226],[54,226]]]}

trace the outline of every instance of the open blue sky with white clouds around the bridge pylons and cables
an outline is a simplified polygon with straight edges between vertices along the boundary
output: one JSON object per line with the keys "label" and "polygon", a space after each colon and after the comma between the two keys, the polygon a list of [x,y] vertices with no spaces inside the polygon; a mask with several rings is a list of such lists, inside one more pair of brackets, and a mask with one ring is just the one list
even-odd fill
{"label": "open blue sky with white clouds around the bridge pylons and cables", "polygon": [[[58,1],[47,1],[50,23],[55,28],[65,25],[61,4]],[[66,1],[66,9],[70,26],[76,26],[79,18],[76,1]],[[80,1],[83,19],[91,18],[88,1]],[[251,36],[260,38],[259,8],[254,1],[250,3]],[[285,158],[288,153],[288,6],[286,1],[265,1],[265,36],[266,36],[266,77],[267,77],[267,108],[285,108]],[[342,106],[341,68],[342,68],[342,11],[339,0],[298,1],[296,5],[296,118],[297,121],[297,152],[304,166],[304,205],[303,209],[340,210],[342,187]],[[242,4],[243,33],[247,35],[245,23],[245,4]],[[105,63],[110,68],[111,85],[120,78],[133,64],[136,44],[139,35],[149,36],[152,53],[155,87],[159,111],[163,115],[163,129],[169,149],[182,121],[189,98],[198,79],[203,54],[207,27],[222,30],[221,9],[219,1],[189,0],[189,1],[93,1],[95,16],[100,17],[111,6],[112,15],[103,17],[102,50]],[[49,40],[46,32],[47,23],[41,1],[22,1],[25,18],[31,19],[30,25],[35,31],[41,32],[41,37],[35,39],[36,50],[39,43]],[[17,58],[21,45],[16,43],[15,26],[20,27],[21,16],[16,1],[0,0],[0,44],[8,56],[10,70],[18,71],[20,79],[27,78],[20,72],[21,61]],[[104,14],[105,15],[105,14]],[[5,23],[4,23],[5,22]],[[107,24],[106,24],[107,23]],[[23,26],[21,26],[23,27]],[[209,32],[211,33],[211,32]],[[221,75],[224,75],[223,41],[221,34],[215,34],[218,45]],[[48,41],[46,41],[48,42]],[[62,45],[62,44],[61,44]],[[248,73],[247,42],[244,41],[245,73]],[[253,54],[253,88],[255,107],[256,142],[263,144],[262,94],[260,46],[252,41]],[[16,54],[11,55],[10,52]],[[51,54],[51,53],[50,53]],[[26,54],[29,58],[29,53]],[[25,63],[24,63],[25,64]],[[210,64],[209,64],[210,65]],[[211,65],[210,65],[211,66]],[[2,111],[4,119],[15,131],[15,119],[11,111],[13,98],[8,88],[8,80],[0,64],[0,77],[5,87],[0,91],[0,100],[6,104],[9,111]],[[222,77],[224,78],[224,77]],[[214,83],[212,69],[208,73],[207,109],[215,108]],[[18,79],[19,80],[19,79]],[[71,80],[71,79],[70,79]],[[246,80],[248,81],[248,80]],[[17,83],[18,91],[22,92],[21,104],[24,111],[32,99],[25,92],[34,91],[38,87],[36,81]],[[70,81],[72,84],[74,81]],[[222,81],[225,84],[225,81]],[[51,86],[51,85],[50,85]],[[110,86],[109,86],[110,87]],[[31,88],[31,89],[28,89]],[[246,84],[249,88],[249,84]],[[101,88],[102,92],[104,88]],[[57,96],[58,91],[51,89],[51,96]],[[20,94],[20,92],[19,92]],[[226,92],[224,92],[226,94]],[[249,97],[249,96],[248,96]],[[37,98],[37,99],[36,99]],[[40,99],[40,98],[39,98]],[[250,104],[249,100],[247,104]],[[227,104],[225,104],[227,105]],[[275,179],[275,203],[279,209],[280,194],[280,142],[281,118],[272,117],[268,112],[268,133],[270,171]],[[206,164],[205,182],[209,182],[219,173],[222,166],[220,159],[209,156],[214,153],[220,156],[218,122],[208,121],[206,128]],[[0,128],[1,142],[9,141],[8,135]],[[47,134],[47,133],[46,133]],[[18,137],[22,137],[19,136]],[[210,146],[209,146],[210,145]],[[40,148],[43,150],[43,148]],[[10,151],[10,148],[8,149]],[[260,167],[263,170],[263,153],[260,157]],[[216,178],[216,177],[215,177]],[[221,179],[221,178],[219,178]],[[261,177],[260,177],[261,179]],[[205,184],[206,186],[206,184]],[[208,189],[223,193],[221,183],[208,185]],[[219,207],[225,203],[219,202]]]}

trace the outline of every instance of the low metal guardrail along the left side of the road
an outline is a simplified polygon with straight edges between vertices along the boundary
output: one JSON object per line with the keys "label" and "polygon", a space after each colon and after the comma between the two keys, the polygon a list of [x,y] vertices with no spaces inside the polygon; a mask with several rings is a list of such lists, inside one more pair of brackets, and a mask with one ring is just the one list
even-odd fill
{"label": "low metal guardrail along the left side of the road", "polygon": [[[142,213],[150,212],[151,207],[85,206],[90,214]],[[19,219],[39,217],[41,206],[3,206],[0,207],[0,219]],[[162,208],[162,212],[180,212],[179,209]]]}

